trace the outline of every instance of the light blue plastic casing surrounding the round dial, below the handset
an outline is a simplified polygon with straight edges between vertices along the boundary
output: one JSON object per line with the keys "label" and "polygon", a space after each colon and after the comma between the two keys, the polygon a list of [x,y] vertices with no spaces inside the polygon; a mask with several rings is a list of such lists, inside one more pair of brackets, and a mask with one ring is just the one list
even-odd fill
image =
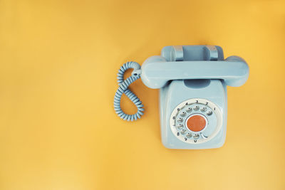
{"label": "light blue plastic casing surrounding the round dial, below the handset", "polygon": [[[208,142],[187,144],[177,139],[170,129],[172,110],[181,102],[202,98],[214,102],[222,112],[222,127]],[[183,80],[173,80],[160,89],[160,130],[162,144],[170,149],[210,149],[222,147],[227,131],[227,88],[221,80],[211,80],[206,88],[189,88]]]}

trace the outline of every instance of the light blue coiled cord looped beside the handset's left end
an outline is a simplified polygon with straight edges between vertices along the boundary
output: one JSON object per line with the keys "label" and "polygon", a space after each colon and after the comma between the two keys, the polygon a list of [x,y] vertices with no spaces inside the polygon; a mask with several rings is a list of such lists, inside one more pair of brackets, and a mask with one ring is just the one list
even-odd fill
{"label": "light blue coiled cord looped beside the handset's left end", "polygon": [[[133,68],[133,73],[132,75],[124,80],[124,74],[125,72]],[[130,61],[125,63],[123,66],[120,67],[119,72],[118,72],[118,83],[119,83],[119,88],[117,92],[115,93],[114,97],[114,109],[116,114],[123,120],[128,120],[128,121],[133,121],[133,120],[138,120],[140,119],[140,116],[143,115],[143,105],[142,102],[140,101],[140,98],[138,98],[132,91],[128,89],[129,85],[135,82],[135,80],[138,80],[140,78],[140,65],[136,62]],[[127,97],[135,104],[135,106],[138,108],[138,112],[136,112],[133,115],[128,115],[120,107],[120,99],[125,93]]]}

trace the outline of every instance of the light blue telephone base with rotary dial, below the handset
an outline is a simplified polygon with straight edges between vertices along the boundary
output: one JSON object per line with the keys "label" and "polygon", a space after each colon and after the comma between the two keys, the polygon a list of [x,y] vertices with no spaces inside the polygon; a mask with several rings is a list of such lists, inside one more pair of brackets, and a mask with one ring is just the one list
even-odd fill
{"label": "light blue telephone base with rotary dial, below the handset", "polygon": [[[187,121],[193,116],[207,126],[192,131]],[[227,130],[226,85],[222,80],[171,81],[160,89],[160,127],[162,144],[169,149],[222,147]]]}

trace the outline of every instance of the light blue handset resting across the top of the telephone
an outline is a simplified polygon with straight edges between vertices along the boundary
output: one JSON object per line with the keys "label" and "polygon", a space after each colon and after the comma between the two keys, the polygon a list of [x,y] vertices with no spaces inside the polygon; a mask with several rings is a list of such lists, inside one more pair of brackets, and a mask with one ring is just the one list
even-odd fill
{"label": "light blue handset resting across the top of the telephone", "polygon": [[[214,63],[213,63],[214,62]],[[241,86],[249,77],[247,63],[237,56],[226,60],[187,60],[168,62],[152,56],[142,65],[142,82],[149,88],[162,88],[169,80],[222,79],[229,86]]]}

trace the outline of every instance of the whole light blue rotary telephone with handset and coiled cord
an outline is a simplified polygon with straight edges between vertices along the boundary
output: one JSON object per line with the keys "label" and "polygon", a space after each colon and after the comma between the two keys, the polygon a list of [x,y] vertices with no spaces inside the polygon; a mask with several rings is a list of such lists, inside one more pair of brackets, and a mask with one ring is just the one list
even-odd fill
{"label": "whole light blue rotary telephone with handset and coiled cord", "polygon": [[[123,75],[133,68],[126,80]],[[115,112],[128,121],[143,114],[142,102],[128,86],[138,80],[149,88],[160,88],[162,144],[170,149],[222,147],[227,130],[227,85],[241,86],[249,77],[247,63],[237,56],[224,60],[219,46],[166,46],[161,56],[140,65],[125,63],[119,70]],[[138,107],[127,115],[120,108],[125,93]]]}

